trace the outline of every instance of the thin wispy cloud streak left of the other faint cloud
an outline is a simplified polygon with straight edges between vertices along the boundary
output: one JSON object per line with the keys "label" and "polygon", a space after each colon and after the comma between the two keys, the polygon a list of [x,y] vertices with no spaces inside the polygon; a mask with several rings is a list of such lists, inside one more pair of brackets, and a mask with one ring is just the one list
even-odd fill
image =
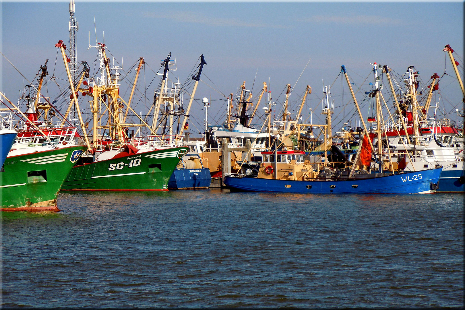
{"label": "thin wispy cloud streak left of the other faint cloud", "polygon": [[196,12],[173,12],[169,14],[146,12],[147,18],[164,18],[184,23],[204,24],[207,26],[235,26],[235,27],[260,27],[260,28],[283,28],[280,25],[268,25],[263,23],[250,23],[233,18],[207,17]]}

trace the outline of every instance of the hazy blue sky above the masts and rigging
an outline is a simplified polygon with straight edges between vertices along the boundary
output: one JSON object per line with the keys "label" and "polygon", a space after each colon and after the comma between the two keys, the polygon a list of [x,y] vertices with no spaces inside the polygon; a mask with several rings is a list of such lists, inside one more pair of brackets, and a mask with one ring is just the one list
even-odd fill
{"label": "hazy blue sky above the masts and rigging", "polygon": [[[55,66],[58,40],[68,40],[68,4],[5,3],[2,6],[2,53],[33,79],[45,59],[48,70],[63,74],[60,59]],[[253,93],[262,82],[271,81],[273,99],[289,83],[299,79],[291,101],[299,101],[306,85],[312,86],[312,101],[318,110],[322,97],[321,80],[331,84],[344,64],[351,78],[361,83],[369,74],[369,63],[376,61],[404,73],[414,65],[426,82],[433,73],[453,74],[442,48],[450,44],[463,57],[462,3],[89,3],[77,2],[79,60],[92,63],[96,50],[94,15],[98,41],[103,41],[125,69],[140,56],[158,70],[159,60],[169,52],[176,57],[184,81],[199,55],[207,65],[204,73],[224,94],[235,93],[246,80],[248,89],[257,73]],[[172,57],[172,58],[173,58]],[[146,67],[145,83],[153,79]],[[61,75],[63,77],[63,75]],[[3,59],[2,90],[17,101],[18,90],[27,82]],[[210,86],[210,81],[205,80]],[[370,79],[369,79],[370,80]],[[142,81],[143,82],[143,81]],[[140,81],[140,83],[142,83]],[[368,83],[368,80],[367,82]],[[141,84],[140,84],[141,85]],[[441,91],[450,101],[446,110],[461,108],[457,81],[445,77]],[[447,86],[447,87],[445,87]],[[343,105],[340,78],[332,92],[335,106]],[[368,86],[369,87],[369,86]],[[445,87],[445,88],[442,88]],[[222,99],[219,92],[201,83],[196,98]],[[344,101],[348,101],[345,87]],[[294,98],[295,97],[295,98]],[[283,96],[279,98],[282,102]],[[224,101],[212,102],[211,118],[221,122]],[[348,108],[352,110],[352,107]],[[200,107],[194,106],[198,119]],[[347,112],[348,113],[348,112]],[[347,114],[344,111],[344,115]],[[216,118],[215,118],[216,116]],[[318,119],[318,115],[315,113]],[[455,117],[454,117],[455,118]],[[321,119],[323,119],[321,117]],[[199,125],[198,125],[199,126]]]}

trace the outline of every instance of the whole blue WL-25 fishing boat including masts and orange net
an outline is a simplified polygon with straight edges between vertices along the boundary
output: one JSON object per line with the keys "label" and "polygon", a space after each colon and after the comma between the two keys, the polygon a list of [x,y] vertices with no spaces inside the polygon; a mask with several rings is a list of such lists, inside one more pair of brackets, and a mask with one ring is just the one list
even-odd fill
{"label": "whole blue WL-25 fishing boat including masts and orange net", "polygon": [[[345,66],[341,66],[341,69],[352,93],[352,99],[359,117],[363,119],[345,71]],[[305,152],[279,148],[278,143],[275,142],[274,150],[272,150],[274,152],[262,152],[263,162],[259,169],[247,169],[244,173],[228,174],[225,176],[224,183],[233,190],[240,191],[393,194],[435,192],[442,171],[441,165],[406,172],[395,167],[389,147],[386,148],[383,145],[380,105],[382,86],[379,84],[379,69],[380,66],[374,63],[375,89],[371,98],[376,99],[378,124],[376,136],[379,137],[376,141],[378,146],[376,149],[373,146],[365,122],[362,122],[364,130],[359,141],[363,143],[359,146],[352,164],[350,162],[328,162],[326,160],[311,163],[305,159]],[[269,110],[267,112],[268,121],[270,122],[271,113],[269,113]],[[296,126],[300,128],[308,125],[297,124]],[[319,127],[324,129],[326,137],[327,125],[319,125]],[[299,134],[297,137],[299,137]],[[327,159],[326,150],[324,156]]]}

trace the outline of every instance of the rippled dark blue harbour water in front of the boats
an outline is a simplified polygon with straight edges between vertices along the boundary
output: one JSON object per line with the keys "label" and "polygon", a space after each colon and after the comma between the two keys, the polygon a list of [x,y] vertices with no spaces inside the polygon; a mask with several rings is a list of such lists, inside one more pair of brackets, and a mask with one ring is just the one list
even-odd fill
{"label": "rippled dark blue harbour water in front of the boats", "polygon": [[463,195],[61,193],[3,212],[3,307],[461,307]]}

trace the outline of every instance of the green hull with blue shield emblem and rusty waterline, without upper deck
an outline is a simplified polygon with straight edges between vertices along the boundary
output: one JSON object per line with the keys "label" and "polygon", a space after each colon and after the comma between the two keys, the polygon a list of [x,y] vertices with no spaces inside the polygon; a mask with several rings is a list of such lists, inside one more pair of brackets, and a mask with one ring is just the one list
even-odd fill
{"label": "green hull with blue shield emblem and rusty waterline, without upper deck", "polygon": [[8,157],[0,172],[2,211],[60,211],[60,187],[85,149],[76,145]]}

